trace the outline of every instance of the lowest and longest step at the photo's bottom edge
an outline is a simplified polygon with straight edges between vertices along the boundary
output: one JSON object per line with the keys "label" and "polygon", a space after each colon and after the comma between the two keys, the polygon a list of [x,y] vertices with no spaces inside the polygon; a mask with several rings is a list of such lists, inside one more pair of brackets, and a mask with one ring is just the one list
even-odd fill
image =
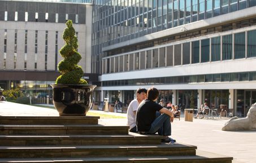
{"label": "lowest and longest step at the photo's bottom edge", "polygon": [[197,150],[196,156],[0,158],[0,162],[232,163],[232,159],[232,157]]}

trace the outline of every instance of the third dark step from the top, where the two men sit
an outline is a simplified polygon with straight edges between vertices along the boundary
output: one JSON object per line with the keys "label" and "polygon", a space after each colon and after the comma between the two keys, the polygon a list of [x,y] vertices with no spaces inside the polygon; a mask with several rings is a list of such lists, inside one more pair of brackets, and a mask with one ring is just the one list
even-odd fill
{"label": "third dark step from the top, where the two men sit", "polygon": [[1,146],[95,146],[160,144],[162,136],[140,135],[0,135]]}

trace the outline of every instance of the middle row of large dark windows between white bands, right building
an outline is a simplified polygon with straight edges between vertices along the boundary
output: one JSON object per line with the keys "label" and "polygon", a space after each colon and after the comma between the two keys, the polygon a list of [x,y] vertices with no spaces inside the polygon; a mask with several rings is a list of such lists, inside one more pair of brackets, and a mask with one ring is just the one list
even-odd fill
{"label": "middle row of large dark windows between white bands, right building", "polygon": [[103,59],[102,72],[127,72],[252,57],[256,57],[256,30],[112,56]]}

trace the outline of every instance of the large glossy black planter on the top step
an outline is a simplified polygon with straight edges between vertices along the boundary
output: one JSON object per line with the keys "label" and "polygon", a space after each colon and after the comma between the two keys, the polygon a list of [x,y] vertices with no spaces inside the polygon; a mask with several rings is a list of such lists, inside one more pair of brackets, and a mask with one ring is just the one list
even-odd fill
{"label": "large glossy black planter on the top step", "polygon": [[85,116],[92,107],[96,85],[51,84],[53,104],[60,116]]}

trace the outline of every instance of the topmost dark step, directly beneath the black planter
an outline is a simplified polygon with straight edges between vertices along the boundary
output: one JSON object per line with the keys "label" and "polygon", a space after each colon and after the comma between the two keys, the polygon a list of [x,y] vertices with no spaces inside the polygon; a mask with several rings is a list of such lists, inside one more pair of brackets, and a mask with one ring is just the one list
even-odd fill
{"label": "topmost dark step, directly beneath the black planter", "polygon": [[93,116],[0,116],[4,125],[98,125],[99,117]]}

